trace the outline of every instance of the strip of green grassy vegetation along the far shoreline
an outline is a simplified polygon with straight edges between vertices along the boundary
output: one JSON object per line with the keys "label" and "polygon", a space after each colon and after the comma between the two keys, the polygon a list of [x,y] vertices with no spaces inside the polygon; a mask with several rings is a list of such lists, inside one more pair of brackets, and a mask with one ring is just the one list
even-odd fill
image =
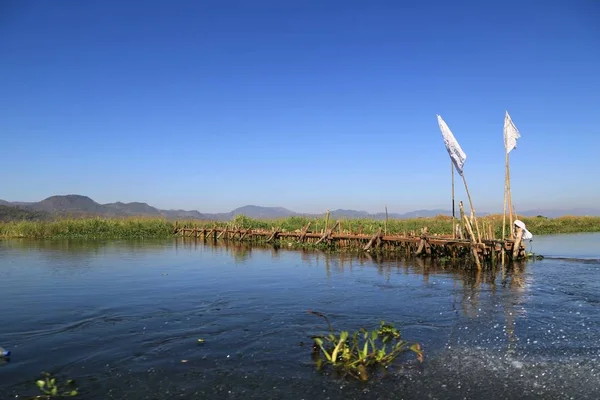
{"label": "strip of green grassy vegetation along the far shoreline", "polygon": [[[600,217],[563,216],[558,218],[519,217],[527,229],[534,235],[559,233],[600,232]],[[502,215],[478,217],[480,223],[491,226],[495,237],[502,237]],[[379,229],[387,234],[403,234],[420,232],[427,227],[430,234],[452,234],[452,218],[437,216],[412,219],[340,219],[340,231],[374,234]],[[325,218],[287,217],[272,220],[260,220],[238,215],[230,221],[189,220],[174,221],[162,218],[129,217],[129,218],[57,218],[43,221],[8,221],[0,222],[0,238],[31,239],[150,239],[173,236],[176,227],[229,227],[235,229],[261,229],[279,231],[301,230],[309,222],[310,231],[321,232],[326,224],[332,228],[335,221]],[[507,227],[508,233],[508,227]]]}

